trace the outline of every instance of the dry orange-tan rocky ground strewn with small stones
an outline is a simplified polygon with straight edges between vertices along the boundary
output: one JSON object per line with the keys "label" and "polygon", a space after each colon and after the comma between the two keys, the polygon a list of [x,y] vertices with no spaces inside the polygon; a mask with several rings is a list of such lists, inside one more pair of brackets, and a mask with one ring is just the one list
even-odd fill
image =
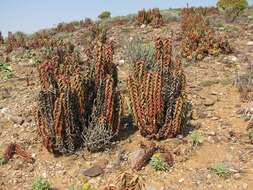
{"label": "dry orange-tan rocky ground strewn with small stones", "polygon": [[[242,101],[234,83],[237,73],[243,73],[253,64],[253,21],[226,25],[234,48],[231,55],[206,57],[204,60],[185,64],[187,92],[193,103],[194,131],[201,134],[203,142],[193,147],[190,135],[157,142],[174,153],[175,164],[167,172],[157,172],[149,165],[134,172],[131,165],[138,154],[139,143],[147,141],[125,123],[125,130],[110,150],[89,153],[85,150],[74,155],[54,157],[42,146],[33,118],[33,106],[39,91],[36,67],[32,59],[23,59],[22,50],[10,56],[14,76],[0,80],[0,152],[8,143],[18,143],[32,154],[35,163],[30,164],[14,156],[0,166],[0,189],[29,189],[38,176],[47,179],[57,189],[89,182],[101,187],[114,182],[125,171],[140,175],[149,190],[243,190],[253,189],[253,145],[250,144],[247,122],[237,114],[248,107]],[[169,28],[169,30],[165,30]],[[117,42],[115,63],[118,64],[121,90],[125,92],[128,75],[125,44],[136,34],[153,40],[166,36],[171,30],[179,30],[179,22],[169,23],[161,29],[115,26],[110,37]],[[225,27],[218,29],[224,31]],[[73,33],[73,39],[81,31]],[[0,49],[3,52],[3,47]],[[127,95],[127,94],[125,94]],[[229,171],[227,177],[219,177],[211,168],[223,164]],[[84,170],[91,166],[102,168],[97,177],[86,177]]]}

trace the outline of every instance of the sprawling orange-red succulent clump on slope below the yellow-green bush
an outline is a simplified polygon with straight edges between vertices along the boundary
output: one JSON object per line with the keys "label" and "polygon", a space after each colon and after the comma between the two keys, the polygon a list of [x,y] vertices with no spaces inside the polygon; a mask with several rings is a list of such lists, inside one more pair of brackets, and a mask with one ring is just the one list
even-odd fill
{"label": "sprawling orange-red succulent clump on slope below the yellow-green bush", "polygon": [[225,37],[221,37],[209,24],[205,8],[186,8],[181,12],[182,56],[188,60],[201,60],[207,55],[231,53]]}

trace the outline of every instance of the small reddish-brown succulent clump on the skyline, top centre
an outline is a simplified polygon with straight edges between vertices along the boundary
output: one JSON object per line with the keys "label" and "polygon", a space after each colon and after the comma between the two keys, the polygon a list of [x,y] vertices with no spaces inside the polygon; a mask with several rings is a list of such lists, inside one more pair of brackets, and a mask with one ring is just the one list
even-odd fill
{"label": "small reddish-brown succulent clump on the skyline, top centre", "polygon": [[151,24],[155,28],[159,28],[163,25],[163,17],[160,13],[159,8],[140,10],[137,15],[138,24]]}

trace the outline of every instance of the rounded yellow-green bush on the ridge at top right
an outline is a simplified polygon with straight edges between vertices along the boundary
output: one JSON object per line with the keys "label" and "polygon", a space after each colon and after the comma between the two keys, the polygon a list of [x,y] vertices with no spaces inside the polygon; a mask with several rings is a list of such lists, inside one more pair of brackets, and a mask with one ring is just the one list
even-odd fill
{"label": "rounded yellow-green bush on the ridge at top right", "polygon": [[225,19],[233,22],[248,7],[247,0],[219,0],[217,6],[225,12]]}

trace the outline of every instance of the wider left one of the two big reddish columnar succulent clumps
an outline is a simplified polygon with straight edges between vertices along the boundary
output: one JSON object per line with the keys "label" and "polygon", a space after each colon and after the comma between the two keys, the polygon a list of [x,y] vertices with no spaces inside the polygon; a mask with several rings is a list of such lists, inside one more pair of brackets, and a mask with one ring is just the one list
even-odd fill
{"label": "wider left one of the two big reddish columnar succulent clumps", "polygon": [[73,45],[60,47],[38,66],[36,123],[42,142],[55,154],[103,150],[119,132],[122,110],[113,42],[87,49],[86,63]]}

